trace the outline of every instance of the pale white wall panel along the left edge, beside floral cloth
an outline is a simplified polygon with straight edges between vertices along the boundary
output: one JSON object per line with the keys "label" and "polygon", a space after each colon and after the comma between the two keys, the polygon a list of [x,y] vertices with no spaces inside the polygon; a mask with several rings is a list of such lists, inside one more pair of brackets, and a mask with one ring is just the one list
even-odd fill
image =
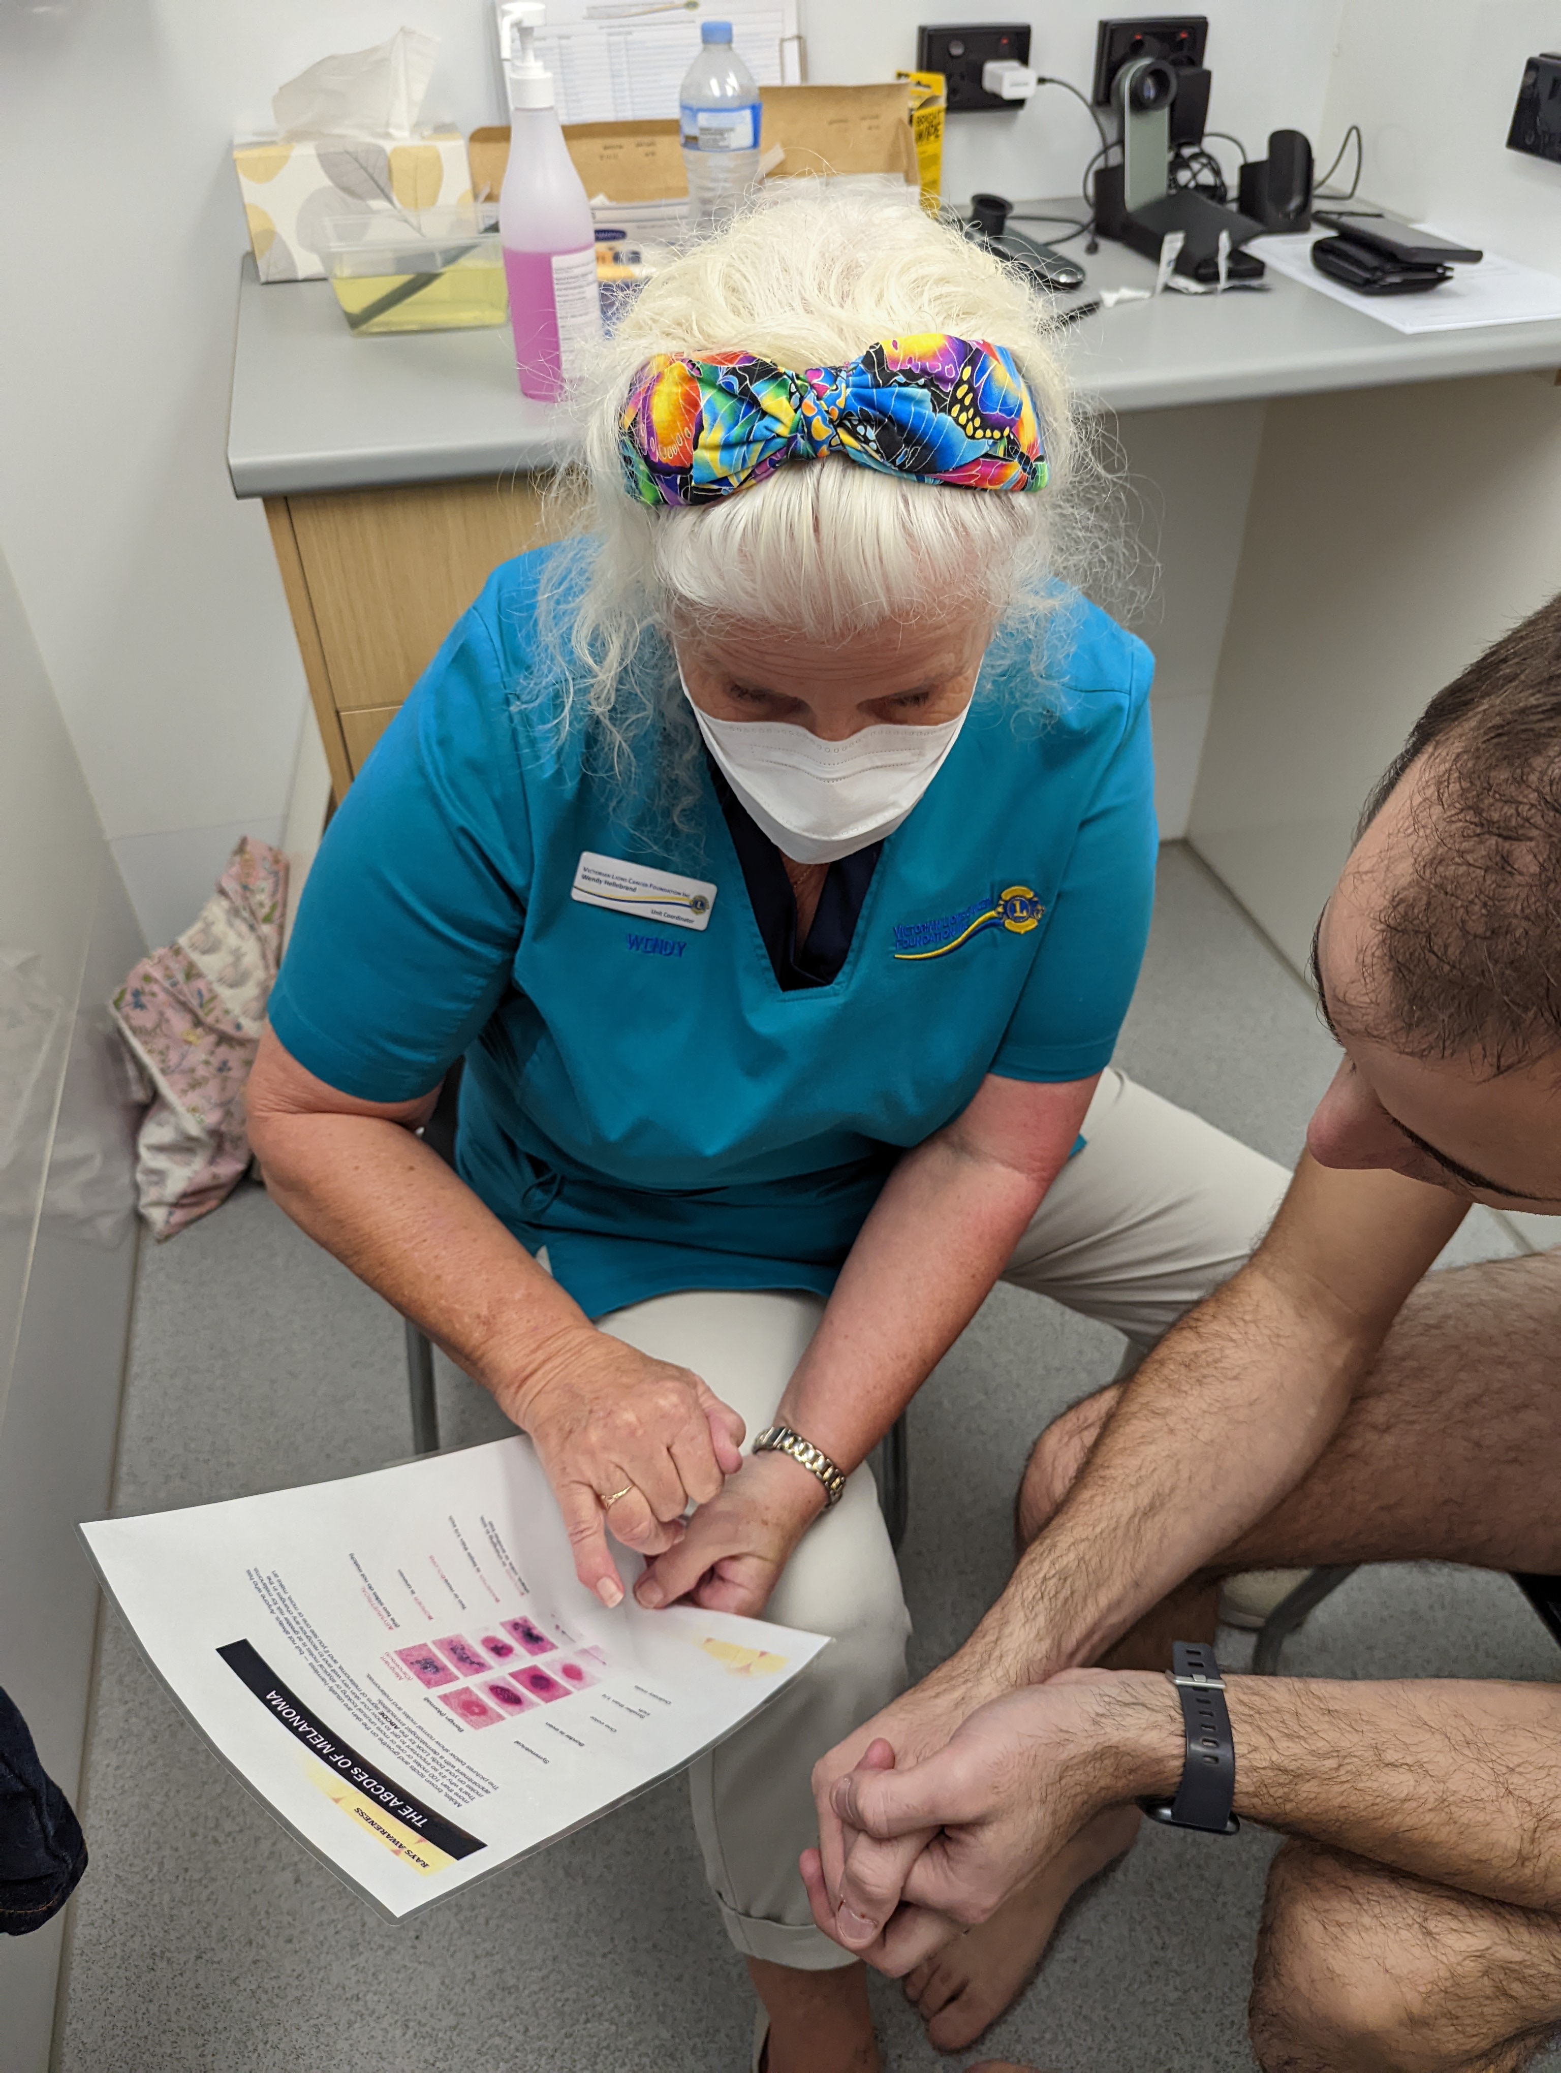
{"label": "pale white wall panel along the left edge, beside floral cloth", "polygon": [[[106,1001],[143,943],[0,558],[0,1685],[75,1797],[135,1269]],[[0,2073],[44,2073],[62,1918],[0,1936]]]}

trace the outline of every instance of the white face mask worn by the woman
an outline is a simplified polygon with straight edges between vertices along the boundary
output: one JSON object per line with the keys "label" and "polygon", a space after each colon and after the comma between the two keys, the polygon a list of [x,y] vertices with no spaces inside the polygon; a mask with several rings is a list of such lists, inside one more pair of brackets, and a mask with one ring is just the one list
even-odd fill
{"label": "white face mask worn by the woman", "polygon": [[970,711],[966,705],[935,728],[877,726],[821,742],[788,719],[711,719],[688,697],[682,670],[678,682],[726,782],[794,864],[833,864],[891,835],[937,777]]}

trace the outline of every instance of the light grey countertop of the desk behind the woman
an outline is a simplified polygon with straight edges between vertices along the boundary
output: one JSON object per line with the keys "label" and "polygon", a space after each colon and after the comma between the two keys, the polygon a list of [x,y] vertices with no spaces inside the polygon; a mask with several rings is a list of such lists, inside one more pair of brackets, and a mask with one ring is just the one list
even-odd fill
{"label": "light grey countertop of the desk behind the woman", "polygon": [[[1039,226],[1034,226],[1039,230]],[[1155,267],[1122,245],[1068,247],[1088,286],[1151,286]],[[1111,410],[1304,396],[1321,390],[1561,369],[1561,323],[1503,323],[1403,338],[1269,272],[1262,294],[1163,294],[1070,328],[1080,388]],[[437,483],[543,468],[566,456],[568,425],[527,402],[510,328],[354,338],[328,282],[261,286],[245,257],[228,417],[228,473],[240,498]]]}

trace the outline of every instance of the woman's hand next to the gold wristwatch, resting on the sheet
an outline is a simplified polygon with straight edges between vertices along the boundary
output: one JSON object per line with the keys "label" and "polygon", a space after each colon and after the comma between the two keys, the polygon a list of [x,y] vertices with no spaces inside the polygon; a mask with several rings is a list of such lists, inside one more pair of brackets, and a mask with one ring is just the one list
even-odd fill
{"label": "woman's hand next to the gold wristwatch, resting on the sheet", "polygon": [[690,1598],[711,1613],[763,1613],[792,1549],[823,1511],[823,1484],[784,1453],[755,1453],[634,1586],[641,1605]]}

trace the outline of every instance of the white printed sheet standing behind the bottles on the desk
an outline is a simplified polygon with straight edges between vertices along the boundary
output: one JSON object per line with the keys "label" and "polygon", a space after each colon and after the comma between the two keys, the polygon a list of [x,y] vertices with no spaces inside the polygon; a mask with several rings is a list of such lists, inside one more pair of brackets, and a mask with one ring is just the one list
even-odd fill
{"label": "white printed sheet standing behind the bottles on the desk", "polygon": [[676,120],[701,17],[732,23],[732,44],[761,87],[802,77],[796,0],[547,0],[537,56],[558,83],[558,120]]}

